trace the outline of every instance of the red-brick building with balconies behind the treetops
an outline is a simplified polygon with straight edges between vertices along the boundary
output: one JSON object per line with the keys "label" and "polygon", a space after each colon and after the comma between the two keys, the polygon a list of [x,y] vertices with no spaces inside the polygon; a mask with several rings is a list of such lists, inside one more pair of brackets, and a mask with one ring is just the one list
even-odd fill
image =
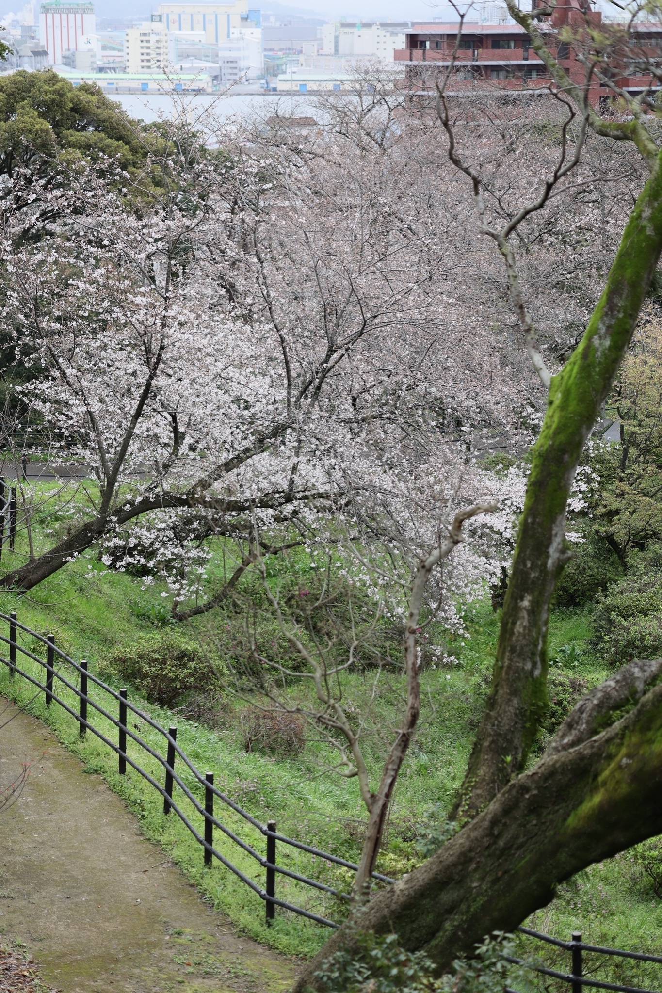
{"label": "red-brick building with balconies behind the treetops", "polygon": [[[569,25],[581,30],[587,21],[597,26],[601,19],[601,13],[593,11],[587,0],[559,0],[552,16],[539,22],[550,50],[577,82],[585,80],[586,70],[577,61],[572,45],[559,41],[559,29]],[[609,25],[604,27],[608,30]],[[662,63],[662,24],[637,24],[632,34],[632,45],[619,60],[620,71],[612,71],[611,79],[617,86],[635,94],[651,83],[651,74],[646,71],[645,64],[652,59]],[[405,70],[408,84],[423,91],[434,89],[436,79],[451,64],[457,37],[457,23],[414,25],[406,34],[406,47],[394,52],[396,63],[408,64]],[[531,48],[526,31],[518,24],[464,22],[456,65],[456,78],[466,80],[467,86],[471,87],[483,80],[485,85],[507,89],[529,89],[549,82],[548,71]],[[457,88],[454,82],[454,89]],[[606,85],[594,80],[592,102],[610,93]]]}

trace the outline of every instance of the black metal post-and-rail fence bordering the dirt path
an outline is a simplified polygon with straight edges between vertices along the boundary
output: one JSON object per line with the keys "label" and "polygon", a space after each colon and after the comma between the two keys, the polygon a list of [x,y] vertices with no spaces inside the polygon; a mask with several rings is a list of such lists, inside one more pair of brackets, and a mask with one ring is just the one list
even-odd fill
{"label": "black metal post-and-rail fence bordering the dirt path", "polygon": [[[2,506],[2,496],[3,495],[0,493],[0,508]],[[212,864],[214,858],[218,859],[218,861],[225,866],[226,869],[233,873],[237,879],[239,879],[245,886],[249,887],[253,893],[264,901],[267,924],[273,922],[276,907],[282,907],[285,910],[292,911],[294,914],[298,914],[304,918],[308,918],[311,921],[324,924],[327,927],[338,926],[337,922],[330,921],[318,914],[312,914],[310,911],[307,911],[302,907],[297,907],[295,904],[289,903],[288,901],[280,900],[276,896],[277,875],[282,874],[290,879],[304,884],[305,886],[313,887],[316,890],[338,898],[339,900],[348,901],[350,899],[348,894],[327,886],[320,880],[312,879],[300,873],[293,872],[283,865],[278,865],[276,861],[277,842],[282,845],[289,845],[292,848],[307,852],[316,858],[323,859],[331,864],[338,865],[352,871],[356,871],[357,869],[357,866],[354,863],[347,862],[345,859],[338,858],[336,855],[331,855],[330,852],[321,851],[312,845],[307,845],[301,841],[296,841],[294,838],[289,838],[284,834],[279,834],[276,829],[276,822],[273,820],[268,820],[266,824],[262,824],[259,820],[244,810],[238,803],[235,803],[229,796],[218,789],[216,785],[214,785],[213,773],[205,773],[202,775],[202,773],[199,772],[195,764],[178,745],[176,727],[170,727],[168,731],[166,731],[166,729],[162,728],[161,725],[154,721],[149,714],[143,710],[140,710],[129,700],[126,689],[120,689],[118,692],[89,672],[86,661],[83,660],[76,662],[74,659],[70,658],[61,648],[58,647],[56,644],[56,639],[53,635],[47,635],[45,637],[35,631],[32,631],[30,628],[27,628],[25,625],[19,623],[16,614],[11,614],[8,616],[0,613],[0,623],[2,622],[7,624],[9,634],[7,636],[0,632],[0,642],[8,645],[9,657],[4,658],[0,656],[0,664],[7,666],[10,677],[14,678],[16,675],[23,676],[23,678],[32,683],[38,691],[44,692],[47,707],[51,707],[55,701],[77,721],[78,733],[81,738],[84,738],[85,735],[90,732],[95,735],[99,741],[103,742],[104,745],[115,752],[118,758],[118,771],[120,775],[126,775],[127,767],[130,766],[136,773],[147,780],[150,785],[152,785],[154,789],[156,789],[163,796],[164,814],[169,815],[174,811],[199,842],[203,849],[204,865],[209,866]],[[19,632],[24,632],[30,638],[36,638],[45,645],[46,660],[19,643]],[[26,669],[22,668],[21,665],[19,665],[17,662],[17,651],[27,658],[31,658],[34,662],[37,662],[39,666],[43,667],[43,679],[36,678],[32,673],[28,672]],[[61,663],[66,663],[68,666],[71,666],[71,668],[77,673],[77,685],[71,682],[70,679],[67,678],[66,674],[61,671],[62,664],[59,665],[57,659],[60,659]],[[66,688],[77,697],[78,706],[76,709],[70,707],[66,700],[63,699],[62,696],[58,695],[56,680],[58,680],[58,682],[63,686],[66,686]],[[110,698],[111,701],[113,701],[114,704],[117,705],[117,716],[110,713],[106,707],[90,695],[90,683],[92,687],[101,690],[107,697]],[[102,715],[117,729],[116,743],[103,734],[99,728],[94,727],[94,724],[90,720],[88,708],[91,708],[92,711]],[[146,722],[163,738],[166,750],[165,755],[163,755],[158,749],[152,748],[148,742],[136,733],[134,728],[132,728],[129,723],[129,714],[134,714],[141,721]],[[151,756],[152,759],[156,760],[162,768],[163,781],[156,780],[151,773],[141,767],[135,758],[128,754],[127,744],[129,740],[143,749],[147,755]],[[201,787],[204,797],[203,802],[199,800],[191,787],[179,774],[178,768],[182,767],[184,767],[188,775],[193,777],[193,779]],[[182,808],[181,803],[178,802],[175,787],[178,787],[182,791],[182,793],[193,804],[195,810],[203,818],[203,828],[201,832],[192,822],[190,816]],[[266,842],[266,851],[264,855],[257,852],[252,845],[246,842],[243,838],[240,838],[236,832],[232,831],[218,818],[216,803],[220,803],[221,806],[225,806],[234,811],[235,814],[238,814],[240,818],[243,818],[264,836]],[[218,851],[216,847],[214,847],[214,829],[222,832],[225,837],[237,845],[264,870],[264,888],[259,886],[254,880],[247,876],[241,869],[235,866],[220,851]],[[383,876],[380,873],[373,873],[372,875],[375,880],[382,883],[395,882],[388,876]],[[522,934],[528,935],[529,937],[547,942],[569,951],[572,959],[571,972],[566,973],[555,969],[549,969],[546,966],[539,965],[535,962],[525,962],[523,959],[516,958],[514,956],[507,956],[508,961],[513,964],[527,965],[544,976],[549,976],[550,978],[557,979],[562,983],[566,983],[572,986],[573,993],[582,993],[583,987],[616,990],[620,991],[620,993],[657,993],[657,991],[646,990],[636,986],[625,986],[617,983],[607,983],[600,980],[591,979],[584,974],[583,956],[584,952],[588,951],[598,955],[619,956],[621,958],[636,959],[643,962],[655,962],[658,964],[662,964],[662,956],[586,944],[582,941],[582,934],[579,932],[573,932],[572,939],[570,941],[563,941],[560,938],[551,937],[550,935],[543,934],[540,931],[532,930],[530,927],[519,927],[518,930]],[[506,987],[505,993],[516,993],[516,991]]]}

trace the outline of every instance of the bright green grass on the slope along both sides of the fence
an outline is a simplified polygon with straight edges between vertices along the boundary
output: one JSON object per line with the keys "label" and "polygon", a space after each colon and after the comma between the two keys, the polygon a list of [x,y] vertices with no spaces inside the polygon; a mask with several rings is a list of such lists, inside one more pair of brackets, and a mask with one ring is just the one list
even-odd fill
{"label": "bright green grass on the slope along both sides of the fence", "polygon": [[[62,526],[66,525],[66,520]],[[36,528],[39,543],[47,535]],[[26,548],[19,536],[14,560],[5,551],[3,567],[24,560]],[[70,563],[66,569],[40,585],[28,596],[0,595],[0,610],[16,609],[19,619],[28,627],[47,634],[54,632],[58,643],[76,659],[86,657],[94,671],[104,654],[118,644],[153,631],[143,610],[136,616],[135,605],[144,608],[163,604],[163,586],[157,582],[141,589],[139,579],[125,573],[108,572],[91,552]],[[132,610],[133,607],[133,610]],[[142,618],[142,619],[141,619]],[[227,616],[209,615],[187,625],[192,635],[209,637],[213,626],[226,625]],[[474,730],[479,720],[482,702],[489,681],[493,653],[498,633],[499,617],[492,613],[488,602],[469,606],[466,612],[469,637],[445,638],[458,659],[453,667],[441,666],[422,674],[423,711],[416,740],[405,760],[391,806],[386,831],[386,843],[380,855],[378,869],[389,875],[401,875],[420,862],[416,835],[426,811],[433,805],[449,805],[463,778]],[[562,660],[553,666],[555,672],[566,672],[587,687],[600,682],[607,672],[586,650],[591,633],[591,618],[586,613],[556,611],[551,618],[550,657],[563,656],[560,649],[576,645],[583,650],[575,653],[572,664]],[[36,664],[36,663],[35,663]],[[565,666],[565,667],[564,667]],[[370,670],[348,675],[345,696],[359,706],[371,709],[376,723],[392,726],[397,719],[402,699],[402,677],[385,673],[377,687]],[[0,670],[0,692],[11,695],[22,704],[30,700],[32,691],[23,679],[10,681],[6,669]],[[306,690],[292,685],[292,697],[305,698]],[[71,703],[73,704],[72,694]],[[173,722],[173,714],[141,701],[135,693],[130,697],[147,710],[162,725]],[[294,836],[355,860],[360,851],[360,833],[365,820],[356,780],[334,777],[325,769],[328,754],[321,744],[311,742],[298,757],[276,758],[247,754],[243,748],[241,712],[245,703],[227,697],[216,730],[177,717],[179,741],[201,772],[213,772],[216,783],[233,799],[241,803],[261,821],[275,819],[278,828]],[[100,746],[91,736],[84,743],[77,737],[75,722],[66,717],[56,704],[47,712],[40,696],[30,709],[47,721],[58,737],[86,764],[90,772],[100,773],[111,787],[122,795],[140,819],[145,834],[172,856],[187,876],[199,886],[232,921],[257,939],[286,953],[308,956],[325,940],[328,931],[295,915],[277,910],[276,923],[267,929],[264,924],[263,903],[223,867],[202,868],[202,850],[184,828],[179,818],[164,817],[162,799],[155,790],[135,773],[126,778],[116,773],[116,757]],[[97,718],[95,717],[96,721]],[[102,719],[100,730],[114,736],[115,731]],[[153,745],[161,747],[159,736],[146,725],[140,734]],[[384,740],[378,732],[366,734],[365,753],[371,775],[378,776]],[[130,746],[134,754],[135,746]],[[151,760],[141,759],[146,768],[158,778],[161,771]],[[198,788],[198,787],[197,787]],[[185,807],[187,804],[185,803]],[[190,809],[190,807],[189,807]],[[198,829],[202,819],[192,814]],[[264,838],[230,811],[222,819],[246,840],[264,851]],[[218,835],[218,832],[216,832]],[[231,842],[216,838],[221,851],[242,871],[263,885],[263,871]],[[331,866],[321,866],[304,854],[279,846],[279,860],[305,874],[313,875],[332,886],[347,889],[350,873]],[[287,861],[289,860],[289,861]],[[334,900],[308,888],[278,877],[278,895],[304,906],[315,913],[338,918],[343,908]],[[662,905],[627,853],[593,866],[559,888],[556,899],[548,908],[533,916],[532,926],[568,938],[574,929],[582,930],[585,940],[632,950],[662,951]],[[523,942],[527,954],[541,954],[539,944]],[[543,948],[548,962],[556,961],[563,969],[569,966],[565,952]],[[557,961],[558,959],[558,961]],[[591,962],[590,967],[593,967]],[[611,962],[610,978],[637,985],[659,986],[650,966]],[[602,973],[603,977],[605,973]],[[546,981],[547,982],[547,981]],[[549,983],[548,983],[549,986]]]}

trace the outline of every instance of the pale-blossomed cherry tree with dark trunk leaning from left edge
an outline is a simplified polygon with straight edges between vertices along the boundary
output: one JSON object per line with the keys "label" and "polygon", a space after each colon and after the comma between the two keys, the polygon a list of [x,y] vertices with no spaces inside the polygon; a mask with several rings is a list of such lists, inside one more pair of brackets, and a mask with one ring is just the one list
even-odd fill
{"label": "pale-blossomed cherry tree with dark trunk leaning from left edge", "polygon": [[[414,477],[443,480],[448,501],[474,432],[522,433],[520,384],[449,292],[464,204],[448,204],[444,177],[430,190],[420,162],[403,175],[406,161],[404,142],[368,154],[331,129],[303,152],[243,138],[216,156],[171,148],[123,188],[82,167],[56,186],[24,178],[29,197],[13,180],[3,314],[43,369],[24,393],[98,490],[6,586],[30,589],[95,542],[120,565],[118,549],[136,564],[168,545],[175,616],[191,617],[254,563],[256,526],[262,554],[330,514],[402,538],[418,526]],[[242,551],[193,605],[213,535]]]}

